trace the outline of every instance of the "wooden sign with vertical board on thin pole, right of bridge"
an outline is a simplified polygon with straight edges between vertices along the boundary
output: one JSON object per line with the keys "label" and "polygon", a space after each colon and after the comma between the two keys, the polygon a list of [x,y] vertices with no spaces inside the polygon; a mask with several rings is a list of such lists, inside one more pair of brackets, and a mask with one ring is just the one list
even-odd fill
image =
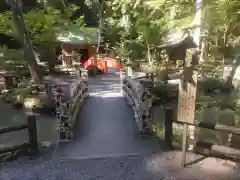
{"label": "wooden sign with vertical board on thin pole, right of bridge", "polygon": [[195,102],[197,91],[197,72],[194,68],[185,67],[179,83],[178,116],[177,120],[183,123],[181,166],[185,166],[187,152],[188,125],[194,123]]}

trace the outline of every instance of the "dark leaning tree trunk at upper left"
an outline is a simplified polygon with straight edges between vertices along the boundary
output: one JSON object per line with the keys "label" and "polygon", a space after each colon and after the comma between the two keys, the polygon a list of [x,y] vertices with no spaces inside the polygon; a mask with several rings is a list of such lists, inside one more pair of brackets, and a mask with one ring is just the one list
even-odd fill
{"label": "dark leaning tree trunk at upper left", "polygon": [[24,49],[24,56],[26,58],[25,60],[28,63],[30,74],[34,82],[36,84],[40,84],[42,80],[42,75],[40,72],[40,68],[36,62],[36,57],[32,48],[32,44],[30,42],[28,32],[25,27],[23,14],[21,11],[19,1],[17,0],[15,3],[10,4],[10,6],[11,6],[12,15],[13,15],[13,20],[16,25],[18,37]]}

